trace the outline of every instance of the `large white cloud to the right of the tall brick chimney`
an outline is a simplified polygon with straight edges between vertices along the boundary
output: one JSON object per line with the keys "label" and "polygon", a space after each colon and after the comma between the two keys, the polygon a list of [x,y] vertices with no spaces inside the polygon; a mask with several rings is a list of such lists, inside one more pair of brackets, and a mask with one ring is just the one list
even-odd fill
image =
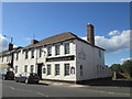
{"label": "large white cloud to the right of the tall brick chimney", "polygon": [[[95,43],[106,50],[106,52],[119,52],[130,48],[130,30],[120,32],[119,35],[112,35],[110,38],[105,36],[95,36]],[[112,32],[110,32],[112,33]],[[86,37],[81,37],[86,40]]]}

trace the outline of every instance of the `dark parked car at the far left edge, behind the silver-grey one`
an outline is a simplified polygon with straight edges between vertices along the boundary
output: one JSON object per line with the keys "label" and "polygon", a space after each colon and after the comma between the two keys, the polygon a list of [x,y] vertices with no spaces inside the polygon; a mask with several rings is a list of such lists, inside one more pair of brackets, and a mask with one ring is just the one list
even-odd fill
{"label": "dark parked car at the far left edge, behind the silver-grey one", "polygon": [[14,79],[14,73],[12,70],[3,70],[1,72],[1,78],[2,79]]}

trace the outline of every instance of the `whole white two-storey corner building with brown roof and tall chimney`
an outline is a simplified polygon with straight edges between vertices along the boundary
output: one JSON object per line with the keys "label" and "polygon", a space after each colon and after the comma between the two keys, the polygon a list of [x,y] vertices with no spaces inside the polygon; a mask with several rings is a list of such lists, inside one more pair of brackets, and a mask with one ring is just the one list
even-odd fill
{"label": "whole white two-storey corner building with brown roof and tall chimney", "polygon": [[70,32],[32,40],[31,45],[13,52],[14,73],[37,73],[42,79],[75,82],[110,77],[105,50],[95,45],[94,25],[88,24],[87,30],[87,41]]}

